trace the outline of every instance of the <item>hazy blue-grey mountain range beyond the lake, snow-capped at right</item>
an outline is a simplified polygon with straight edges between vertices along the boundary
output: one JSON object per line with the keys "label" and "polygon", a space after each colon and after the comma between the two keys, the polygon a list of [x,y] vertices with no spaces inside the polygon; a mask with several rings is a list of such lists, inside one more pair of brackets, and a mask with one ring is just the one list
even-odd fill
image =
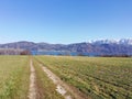
{"label": "hazy blue-grey mountain range beyond the lake, snow-capped at right", "polygon": [[29,51],[63,51],[63,52],[78,52],[78,53],[95,53],[97,55],[132,55],[132,40],[122,38],[116,40],[100,40],[88,43],[75,44],[48,44],[48,43],[33,43],[33,42],[14,42],[0,44],[0,48],[20,48]]}

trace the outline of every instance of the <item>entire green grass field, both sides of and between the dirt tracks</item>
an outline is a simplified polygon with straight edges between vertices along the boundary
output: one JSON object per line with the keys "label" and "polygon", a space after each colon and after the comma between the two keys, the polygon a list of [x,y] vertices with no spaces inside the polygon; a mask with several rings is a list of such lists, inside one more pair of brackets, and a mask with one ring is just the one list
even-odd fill
{"label": "entire green grass field, both sides of and between the dirt tracks", "polygon": [[[64,99],[40,63],[80,91],[85,99],[132,99],[132,58],[33,57],[38,99]],[[0,99],[28,99],[30,61],[29,56],[0,56]]]}

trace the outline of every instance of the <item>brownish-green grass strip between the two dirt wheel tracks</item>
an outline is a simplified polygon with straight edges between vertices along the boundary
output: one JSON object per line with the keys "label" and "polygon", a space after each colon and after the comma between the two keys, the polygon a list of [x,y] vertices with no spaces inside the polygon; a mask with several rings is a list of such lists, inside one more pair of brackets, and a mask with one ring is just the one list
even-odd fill
{"label": "brownish-green grass strip between the two dirt wheel tracks", "polygon": [[47,77],[47,75],[42,70],[40,63],[33,61],[36,74],[36,87],[37,87],[37,98],[38,99],[64,99],[63,96],[57,94],[56,86]]}

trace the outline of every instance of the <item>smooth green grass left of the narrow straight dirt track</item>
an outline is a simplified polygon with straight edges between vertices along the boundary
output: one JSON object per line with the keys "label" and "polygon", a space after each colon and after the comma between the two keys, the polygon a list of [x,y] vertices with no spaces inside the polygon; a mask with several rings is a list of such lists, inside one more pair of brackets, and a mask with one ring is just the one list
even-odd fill
{"label": "smooth green grass left of the narrow straight dirt track", "polygon": [[28,99],[29,57],[0,56],[0,99]]}

